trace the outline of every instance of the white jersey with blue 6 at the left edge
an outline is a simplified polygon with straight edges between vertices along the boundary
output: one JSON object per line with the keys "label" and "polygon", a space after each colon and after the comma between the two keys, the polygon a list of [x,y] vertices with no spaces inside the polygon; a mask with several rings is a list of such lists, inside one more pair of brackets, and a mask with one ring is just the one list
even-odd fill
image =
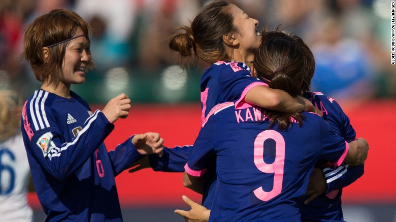
{"label": "white jersey with blue 6 at the left edge", "polygon": [[0,222],[32,221],[26,198],[29,176],[22,135],[0,141]]}

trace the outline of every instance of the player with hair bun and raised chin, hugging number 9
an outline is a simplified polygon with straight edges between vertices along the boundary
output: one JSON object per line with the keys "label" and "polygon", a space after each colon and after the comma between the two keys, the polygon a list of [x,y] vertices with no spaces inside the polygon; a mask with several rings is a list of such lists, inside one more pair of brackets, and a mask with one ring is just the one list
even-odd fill
{"label": "player with hair bun and raised chin, hugging number 9", "polygon": [[[258,21],[250,18],[240,8],[226,1],[213,1],[204,7],[191,22],[181,26],[173,36],[170,48],[183,57],[192,54],[199,62],[209,65],[201,77],[201,121],[218,103],[234,101],[259,105],[282,112],[315,111],[312,103],[302,96],[290,96],[286,92],[271,89],[250,73],[254,53],[261,42],[257,31]],[[215,171],[206,174],[207,189],[203,204],[210,202],[210,190],[216,181]],[[211,177],[211,179],[209,179]]]}

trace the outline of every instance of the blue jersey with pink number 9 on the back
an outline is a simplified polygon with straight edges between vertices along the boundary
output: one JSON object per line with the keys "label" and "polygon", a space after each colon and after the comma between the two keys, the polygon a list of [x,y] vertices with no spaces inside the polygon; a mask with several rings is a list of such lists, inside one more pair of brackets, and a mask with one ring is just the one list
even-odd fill
{"label": "blue jersey with pink number 9 on the back", "polygon": [[318,115],[300,128],[269,127],[260,107],[217,105],[203,123],[185,170],[203,176],[217,159],[210,221],[300,221],[318,160],[340,165],[348,145]]}

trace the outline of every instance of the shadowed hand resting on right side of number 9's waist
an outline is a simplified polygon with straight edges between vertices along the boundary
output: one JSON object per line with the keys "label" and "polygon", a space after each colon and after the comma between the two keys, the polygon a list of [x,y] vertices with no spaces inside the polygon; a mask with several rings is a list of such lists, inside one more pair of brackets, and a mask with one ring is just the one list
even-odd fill
{"label": "shadowed hand resting on right side of number 9's waist", "polygon": [[308,204],[313,199],[323,194],[327,190],[326,178],[324,178],[323,171],[320,168],[315,167],[312,171],[311,177],[309,178],[308,189],[306,196],[309,196],[304,204]]}

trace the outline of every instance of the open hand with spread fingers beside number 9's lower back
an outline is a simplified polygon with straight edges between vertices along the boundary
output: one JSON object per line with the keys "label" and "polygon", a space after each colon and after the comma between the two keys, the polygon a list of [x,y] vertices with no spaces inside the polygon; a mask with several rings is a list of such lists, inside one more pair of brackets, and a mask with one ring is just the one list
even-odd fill
{"label": "open hand with spread fingers beside number 9's lower back", "polygon": [[175,210],[175,213],[184,217],[184,220],[187,222],[207,222],[209,221],[210,210],[206,209],[206,207],[195,203],[190,198],[186,196],[182,196],[184,202],[191,207],[191,210]]}

